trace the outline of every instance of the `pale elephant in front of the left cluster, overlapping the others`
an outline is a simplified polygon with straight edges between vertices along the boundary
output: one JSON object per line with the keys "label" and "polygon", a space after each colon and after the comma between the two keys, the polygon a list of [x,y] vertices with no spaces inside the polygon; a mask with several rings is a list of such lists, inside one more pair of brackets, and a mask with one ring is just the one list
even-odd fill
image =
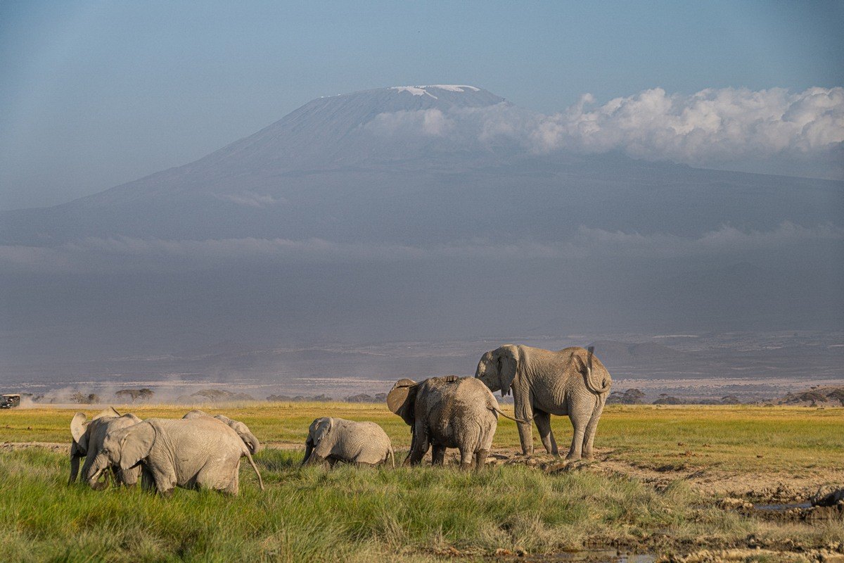
{"label": "pale elephant in front of the left cluster, overlapping the others", "polygon": [[149,419],[109,432],[94,462],[100,472],[138,464],[145,487],[170,495],[175,487],[221,490],[237,495],[241,456],[246,456],[263,490],[261,474],[249,448],[235,430],[209,416],[193,419]]}

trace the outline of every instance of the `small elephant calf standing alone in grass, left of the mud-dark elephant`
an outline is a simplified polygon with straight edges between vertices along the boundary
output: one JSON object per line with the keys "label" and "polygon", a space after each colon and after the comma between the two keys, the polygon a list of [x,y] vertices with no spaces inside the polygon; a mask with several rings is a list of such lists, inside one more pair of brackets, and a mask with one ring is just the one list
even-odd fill
{"label": "small elephant calf standing alone in grass, left of the mud-dark elephant", "polygon": [[374,422],[334,419],[324,416],[311,422],[305,441],[302,465],[327,462],[380,465],[387,459],[396,467],[390,438]]}

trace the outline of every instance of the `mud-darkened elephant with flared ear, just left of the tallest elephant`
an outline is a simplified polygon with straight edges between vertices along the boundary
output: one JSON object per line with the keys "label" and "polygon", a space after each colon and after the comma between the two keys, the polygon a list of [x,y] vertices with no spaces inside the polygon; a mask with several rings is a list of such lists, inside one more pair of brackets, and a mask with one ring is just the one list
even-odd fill
{"label": "mud-darkened elephant with flared ear, just left of the tallest elephant", "polygon": [[498,425],[498,402],[482,382],[472,377],[430,377],[414,383],[403,379],[407,399],[393,410],[410,425],[412,440],[405,463],[418,465],[432,447],[431,463],[442,465],[446,447],[460,450],[460,467],[484,467]]}

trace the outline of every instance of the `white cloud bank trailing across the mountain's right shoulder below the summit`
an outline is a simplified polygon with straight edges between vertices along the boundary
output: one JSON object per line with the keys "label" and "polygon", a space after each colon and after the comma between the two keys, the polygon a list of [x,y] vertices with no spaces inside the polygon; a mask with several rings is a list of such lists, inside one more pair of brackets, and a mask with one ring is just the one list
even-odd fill
{"label": "white cloud bank trailing across the mountain's right shoulder below the summit", "polygon": [[[463,134],[457,139],[463,143],[517,143],[533,154],[621,151],[637,159],[701,167],[787,158],[820,162],[831,170],[827,177],[841,178],[844,172],[841,87],[796,94],[782,88],[722,88],[693,95],[669,95],[655,88],[603,105],[592,95],[582,95],[553,115],[500,103],[445,112],[381,113],[365,127],[386,137]],[[801,170],[811,169],[803,165]]]}

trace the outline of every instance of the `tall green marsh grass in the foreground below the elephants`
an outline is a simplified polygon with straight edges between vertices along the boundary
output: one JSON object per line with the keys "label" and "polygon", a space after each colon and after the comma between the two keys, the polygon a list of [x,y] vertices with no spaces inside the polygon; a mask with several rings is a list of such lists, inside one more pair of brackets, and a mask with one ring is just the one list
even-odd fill
{"label": "tall green marsh grass in the foreground below the elephants", "polygon": [[[731,544],[757,537],[844,540],[841,525],[777,527],[707,505],[684,482],[657,491],[587,471],[520,465],[299,468],[300,453],[256,457],[267,490],[241,468],[241,495],[68,486],[66,457],[32,448],[0,455],[0,544],[22,561],[437,560],[459,549],[547,553],[591,545]],[[663,538],[663,539],[660,539]],[[670,538],[670,541],[668,540]]]}

